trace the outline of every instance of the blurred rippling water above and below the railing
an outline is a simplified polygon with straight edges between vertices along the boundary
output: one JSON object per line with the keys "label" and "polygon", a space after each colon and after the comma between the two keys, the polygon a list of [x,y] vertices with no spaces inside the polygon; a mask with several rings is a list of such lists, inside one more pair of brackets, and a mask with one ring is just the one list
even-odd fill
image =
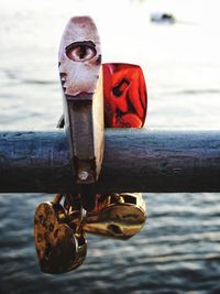
{"label": "blurred rippling water above and below the railing", "polygon": [[[72,15],[99,29],[103,62],[138,63],[147,128],[220,128],[218,0],[0,0],[0,130],[55,129],[59,40]],[[152,12],[179,21],[153,24]],[[24,183],[25,185],[25,183]],[[121,242],[88,236],[75,272],[41,273],[35,207],[48,194],[0,195],[0,293],[220,293],[220,195],[150,194],[147,226]]]}

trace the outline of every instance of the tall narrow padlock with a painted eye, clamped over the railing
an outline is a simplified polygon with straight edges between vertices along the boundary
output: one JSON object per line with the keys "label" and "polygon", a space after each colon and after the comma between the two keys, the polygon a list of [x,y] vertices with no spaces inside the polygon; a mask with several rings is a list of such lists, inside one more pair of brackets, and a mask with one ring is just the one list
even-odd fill
{"label": "tall narrow padlock with a painted eye, clamped over the railing", "polygon": [[82,207],[95,205],[95,183],[103,157],[103,89],[101,47],[89,17],[72,18],[64,31],[58,69],[63,87],[64,122],[74,177]]}

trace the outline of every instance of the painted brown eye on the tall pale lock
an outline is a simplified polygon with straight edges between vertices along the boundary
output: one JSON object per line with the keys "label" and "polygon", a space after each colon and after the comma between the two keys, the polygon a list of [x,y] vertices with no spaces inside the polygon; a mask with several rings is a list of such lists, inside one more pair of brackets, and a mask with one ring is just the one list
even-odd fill
{"label": "painted brown eye on the tall pale lock", "polygon": [[66,55],[73,62],[87,62],[96,56],[95,47],[91,41],[75,42],[66,47]]}

